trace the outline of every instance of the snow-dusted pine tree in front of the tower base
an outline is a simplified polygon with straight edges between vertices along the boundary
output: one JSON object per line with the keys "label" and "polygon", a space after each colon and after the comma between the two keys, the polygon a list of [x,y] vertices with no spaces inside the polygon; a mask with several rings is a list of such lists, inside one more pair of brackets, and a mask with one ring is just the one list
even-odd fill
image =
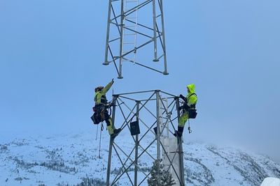
{"label": "snow-dusted pine tree in front of the tower base", "polygon": [[163,169],[160,160],[153,162],[151,170],[151,178],[148,178],[148,186],[172,186],[175,181],[172,179],[172,174]]}

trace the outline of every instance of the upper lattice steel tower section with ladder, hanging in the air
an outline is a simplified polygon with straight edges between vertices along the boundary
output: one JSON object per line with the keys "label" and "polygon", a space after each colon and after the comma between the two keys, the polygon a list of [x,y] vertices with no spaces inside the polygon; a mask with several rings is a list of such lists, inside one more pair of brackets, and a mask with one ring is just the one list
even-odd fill
{"label": "upper lattice steel tower section with ladder, hanging in the air", "polygon": [[103,64],[112,62],[119,79],[127,62],[168,75],[162,0],[109,0]]}

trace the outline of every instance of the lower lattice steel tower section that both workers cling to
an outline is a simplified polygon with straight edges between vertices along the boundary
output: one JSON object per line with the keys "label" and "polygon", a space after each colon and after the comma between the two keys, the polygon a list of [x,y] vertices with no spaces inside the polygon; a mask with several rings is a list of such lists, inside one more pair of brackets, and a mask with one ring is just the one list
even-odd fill
{"label": "lower lattice steel tower section that both workers cling to", "polygon": [[[180,100],[160,90],[113,95],[112,121],[121,128],[110,139],[106,185],[148,185],[154,160],[172,174],[174,186],[185,186],[182,139],[173,136]],[[124,141],[123,138],[126,140]],[[120,166],[121,164],[121,166]]]}

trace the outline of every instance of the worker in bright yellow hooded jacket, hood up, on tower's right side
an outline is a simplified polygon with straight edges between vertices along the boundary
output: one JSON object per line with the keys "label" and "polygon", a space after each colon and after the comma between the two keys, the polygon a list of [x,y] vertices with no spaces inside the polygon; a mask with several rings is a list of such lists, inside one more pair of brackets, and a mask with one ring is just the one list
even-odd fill
{"label": "worker in bright yellow hooded jacket, hood up, on tower's right side", "polygon": [[197,104],[195,84],[189,84],[187,86],[187,89],[188,95],[186,96],[186,98],[180,94],[180,98],[184,101],[184,103],[181,107],[179,107],[179,110],[183,109],[183,114],[179,117],[178,130],[176,130],[174,133],[175,137],[182,137],[185,123],[189,118],[195,118],[197,116],[197,112],[195,109],[195,104]]}

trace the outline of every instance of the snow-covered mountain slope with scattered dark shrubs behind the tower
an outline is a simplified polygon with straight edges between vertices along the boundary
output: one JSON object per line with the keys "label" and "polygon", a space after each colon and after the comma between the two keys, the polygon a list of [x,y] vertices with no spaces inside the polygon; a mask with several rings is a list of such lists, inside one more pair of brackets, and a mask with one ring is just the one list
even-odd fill
{"label": "snow-covered mountain slope with scattered dark shrubs behind the tower", "polygon": [[[0,185],[78,185],[85,182],[104,185],[109,149],[106,133],[102,134],[100,157],[99,138],[96,140],[93,132],[0,141]],[[145,148],[150,140],[140,145]],[[130,152],[134,141],[129,136],[119,135],[116,144]],[[280,165],[263,155],[186,141],[183,150],[186,185],[260,185],[267,176],[280,178]],[[151,146],[148,153],[155,155],[155,146]],[[144,153],[139,159],[141,171],[145,173],[151,170],[150,155]],[[123,153],[120,157],[123,162],[127,160]],[[113,153],[111,180],[120,167]],[[118,185],[131,185],[127,175],[134,175],[133,166],[118,180]],[[139,174],[139,180],[141,178],[144,174]]]}

